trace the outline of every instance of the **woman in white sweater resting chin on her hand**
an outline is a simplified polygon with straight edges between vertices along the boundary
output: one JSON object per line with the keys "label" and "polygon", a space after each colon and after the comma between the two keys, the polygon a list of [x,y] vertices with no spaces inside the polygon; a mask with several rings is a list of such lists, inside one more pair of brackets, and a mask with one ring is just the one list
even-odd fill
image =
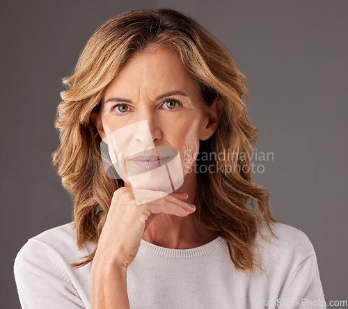
{"label": "woman in white sweater resting chin on her hand", "polygon": [[23,308],[326,308],[313,245],[251,182],[246,78],[202,26],[118,15],[64,82],[53,161],[74,222],[19,251]]}

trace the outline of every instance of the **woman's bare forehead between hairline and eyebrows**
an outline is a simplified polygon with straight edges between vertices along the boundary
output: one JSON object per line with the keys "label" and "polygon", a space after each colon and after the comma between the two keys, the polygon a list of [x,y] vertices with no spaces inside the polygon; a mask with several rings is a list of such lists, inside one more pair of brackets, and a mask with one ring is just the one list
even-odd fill
{"label": "woman's bare forehead between hairline and eyebrows", "polygon": [[196,82],[184,68],[180,55],[167,47],[144,49],[130,58],[111,81],[104,93],[108,95],[140,95],[155,97],[168,91],[180,90],[196,95]]}

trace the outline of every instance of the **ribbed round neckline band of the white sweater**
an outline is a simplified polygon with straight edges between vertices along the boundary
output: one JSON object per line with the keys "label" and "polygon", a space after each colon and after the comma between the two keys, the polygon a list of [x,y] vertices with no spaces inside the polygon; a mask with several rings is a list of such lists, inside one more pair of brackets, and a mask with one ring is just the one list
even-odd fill
{"label": "ribbed round neckline band of the white sweater", "polygon": [[209,252],[214,251],[215,248],[217,248],[218,246],[224,243],[226,243],[226,241],[219,236],[219,237],[216,237],[216,239],[208,242],[207,244],[196,247],[196,248],[172,249],[172,248],[164,248],[161,246],[157,246],[155,244],[151,244],[150,242],[144,239],[141,239],[140,248],[143,248],[146,251],[149,251],[150,253],[155,255],[159,255],[163,258],[184,259],[184,258],[197,258],[201,255],[205,255]]}

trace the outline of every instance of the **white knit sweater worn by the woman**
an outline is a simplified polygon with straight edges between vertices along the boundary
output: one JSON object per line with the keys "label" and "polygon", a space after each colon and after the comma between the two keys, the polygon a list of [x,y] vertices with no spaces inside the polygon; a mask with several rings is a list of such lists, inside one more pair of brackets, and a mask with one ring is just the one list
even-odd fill
{"label": "white knit sweater worn by the woman", "polygon": [[[271,223],[258,235],[262,269],[252,276],[236,270],[221,237],[197,248],[163,248],[141,240],[127,270],[131,308],[326,308],[317,257],[308,237],[283,223]],[[70,263],[93,252],[79,251],[74,223],[52,228],[22,247],[14,264],[22,308],[90,308],[91,263]],[[256,251],[254,251],[256,252]],[[255,261],[257,262],[257,261]],[[258,263],[256,263],[258,264]],[[297,302],[297,303],[296,303]]]}

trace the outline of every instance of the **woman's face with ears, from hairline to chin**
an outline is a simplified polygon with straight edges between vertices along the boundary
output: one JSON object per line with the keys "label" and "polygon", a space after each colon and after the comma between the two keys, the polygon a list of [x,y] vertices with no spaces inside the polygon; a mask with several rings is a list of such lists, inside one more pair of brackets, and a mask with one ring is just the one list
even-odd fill
{"label": "woman's face with ears, from hairline to chin", "polygon": [[93,121],[126,183],[171,192],[194,173],[199,141],[216,129],[218,119],[201,104],[177,52],[145,49],[111,81]]}

